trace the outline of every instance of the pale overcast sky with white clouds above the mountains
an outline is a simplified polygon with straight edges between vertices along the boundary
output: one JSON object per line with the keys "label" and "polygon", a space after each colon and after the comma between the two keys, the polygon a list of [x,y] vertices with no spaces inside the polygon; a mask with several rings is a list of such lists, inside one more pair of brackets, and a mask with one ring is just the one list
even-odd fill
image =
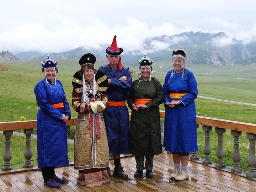
{"label": "pale overcast sky with white clouds above the mountains", "polygon": [[145,38],[187,31],[256,34],[256,0],[0,0],[0,50],[63,52],[112,43],[137,50]]}

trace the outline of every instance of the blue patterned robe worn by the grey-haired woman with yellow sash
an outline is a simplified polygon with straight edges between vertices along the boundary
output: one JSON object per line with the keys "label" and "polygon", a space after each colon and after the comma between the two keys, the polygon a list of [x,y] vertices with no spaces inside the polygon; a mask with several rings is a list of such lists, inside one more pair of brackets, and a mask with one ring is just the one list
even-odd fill
{"label": "blue patterned robe worn by the grey-haired woman with yellow sash", "polygon": [[[164,123],[164,146],[170,152],[188,153],[198,151],[197,145],[197,121],[196,104],[197,82],[190,70],[185,69],[184,77],[180,73],[166,74],[163,85],[165,123]],[[173,73],[173,74],[172,74]],[[171,77],[172,74],[172,77]],[[170,98],[170,93],[188,93],[182,98]],[[167,102],[180,100],[182,103],[174,108],[166,106]]]}

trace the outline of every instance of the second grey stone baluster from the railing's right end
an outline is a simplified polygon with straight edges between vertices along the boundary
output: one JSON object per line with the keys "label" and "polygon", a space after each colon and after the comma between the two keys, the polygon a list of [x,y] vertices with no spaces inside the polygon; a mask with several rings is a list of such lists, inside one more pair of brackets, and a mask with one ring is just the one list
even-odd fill
{"label": "second grey stone baluster from the railing's right end", "polygon": [[240,160],[241,155],[239,152],[239,137],[242,135],[241,131],[231,130],[231,135],[233,135],[234,138],[234,151],[232,154],[232,159],[234,161],[233,167],[231,168],[231,172],[234,174],[241,174],[242,170],[240,168]]}

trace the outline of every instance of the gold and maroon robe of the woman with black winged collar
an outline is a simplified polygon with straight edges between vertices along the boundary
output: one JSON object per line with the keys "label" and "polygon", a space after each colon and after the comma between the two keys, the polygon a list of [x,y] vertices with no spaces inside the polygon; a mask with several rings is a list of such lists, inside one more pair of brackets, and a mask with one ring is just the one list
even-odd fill
{"label": "gold and maroon robe of the woman with black winged collar", "polygon": [[[96,88],[98,88],[97,82]],[[88,103],[94,102],[94,99],[94,97],[88,97]],[[107,95],[101,95],[101,97],[97,95],[97,101],[103,103],[101,108],[105,106],[105,110],[108,101]],[[90,172],[90,174],[84,174],[85,182],[81,176],[82,174],[79,173],[79,184],[86,183],[87,187],[101,186],[102,183],[110,181],[108,175],[105,174],[106,170],[102,170],[109,166],[107,133],[102,109],[99,109],[96,113],[89,112],[87,109],[88,103],[83,104],[82,95],[73,90],[73,108],[78,112],[74,142],[74,168],[75,170],[88,170]],[[91,133],[90,124],[92,126]],[[100,138],[97,138],[97,128],[100,129]],[[90,134],[92,134],[92,137]]]}

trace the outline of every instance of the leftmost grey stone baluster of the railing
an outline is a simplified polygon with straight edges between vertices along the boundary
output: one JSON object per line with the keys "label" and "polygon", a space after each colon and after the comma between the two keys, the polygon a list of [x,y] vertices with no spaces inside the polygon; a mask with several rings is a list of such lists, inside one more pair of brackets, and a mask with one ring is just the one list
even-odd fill
{"label": "leftmost grey stone baluster of the railing", "polygon": [[13,134],[13,130],[4,131],[5,135],[5,151],[3,154],[4,159],[4,167],[2,167],[2,171],[9,171],[11,170],[11,159],[12,159],[12,153],[11,153],[11,136]]}

